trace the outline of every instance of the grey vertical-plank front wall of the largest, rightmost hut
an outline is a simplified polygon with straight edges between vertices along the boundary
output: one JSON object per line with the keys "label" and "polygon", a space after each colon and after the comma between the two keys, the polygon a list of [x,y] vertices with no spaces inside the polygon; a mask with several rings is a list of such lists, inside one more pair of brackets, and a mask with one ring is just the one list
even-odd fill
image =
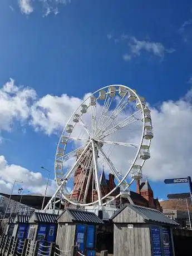
{"label": "grey vertical-plank front wall of the largest, rightmost hut", "polygon": [[151,256],[149,225],[114,223],[114,256]]}

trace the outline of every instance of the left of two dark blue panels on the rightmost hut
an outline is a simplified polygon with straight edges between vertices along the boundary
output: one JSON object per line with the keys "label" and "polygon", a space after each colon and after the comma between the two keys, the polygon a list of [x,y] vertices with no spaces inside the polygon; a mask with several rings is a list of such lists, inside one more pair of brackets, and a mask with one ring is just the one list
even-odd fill
{"label": "left of two dark blue panels on the rightmost hut", "polygon": [[151,227],[151,243],[152,243],[152,255],[161,256],[161,236],[160,229]]}

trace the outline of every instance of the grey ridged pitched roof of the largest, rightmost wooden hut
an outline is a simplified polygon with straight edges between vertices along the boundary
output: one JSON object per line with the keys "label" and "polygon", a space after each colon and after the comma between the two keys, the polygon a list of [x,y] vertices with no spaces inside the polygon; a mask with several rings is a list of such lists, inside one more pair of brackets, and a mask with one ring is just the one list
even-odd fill
{"label": "grey ridged pitched roof of the largest, rightmost wooden hut", "polygon": [[169,224],[169,225],[174,225],[174,226],[179,225],[174,220],[171,220],[170,218],[165,216],[159,210],[146,208],[146,207],[138,206],[138,205],[132,205],[132,204],[124,205],[124,207],[122,207],[119,211],[117,211],[111,217],[111,219],[114,219],[126,207],[129,207],[132,210],[136,211],[136,213],[140,214],[145,221],[154,221],[154,222],[164,223],[164,224]]}

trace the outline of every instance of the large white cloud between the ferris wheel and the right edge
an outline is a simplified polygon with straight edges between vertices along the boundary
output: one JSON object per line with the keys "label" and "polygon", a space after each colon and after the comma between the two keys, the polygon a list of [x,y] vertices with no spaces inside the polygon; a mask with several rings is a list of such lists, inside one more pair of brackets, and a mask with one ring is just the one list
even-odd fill
{"label": "large white cloud between the ferris wheel and the right edge", "polygon": [[191,175],[192,164],[192,104],[191,91],[178,101],[166,101],[159,110],[152,109],[154,139],[151,159],[144,173],[153,180]]}

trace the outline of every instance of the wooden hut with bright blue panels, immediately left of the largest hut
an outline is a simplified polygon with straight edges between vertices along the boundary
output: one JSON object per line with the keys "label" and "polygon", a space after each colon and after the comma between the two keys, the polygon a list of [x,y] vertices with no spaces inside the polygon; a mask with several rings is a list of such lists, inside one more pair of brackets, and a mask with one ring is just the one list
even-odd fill
{"label": "wooden hut with bright blue panels, immediately left of the largest hut", "polygon": [[58,216],[56,253],[95,255],[96,225],[104,224],[89,211],[66,209]]}

